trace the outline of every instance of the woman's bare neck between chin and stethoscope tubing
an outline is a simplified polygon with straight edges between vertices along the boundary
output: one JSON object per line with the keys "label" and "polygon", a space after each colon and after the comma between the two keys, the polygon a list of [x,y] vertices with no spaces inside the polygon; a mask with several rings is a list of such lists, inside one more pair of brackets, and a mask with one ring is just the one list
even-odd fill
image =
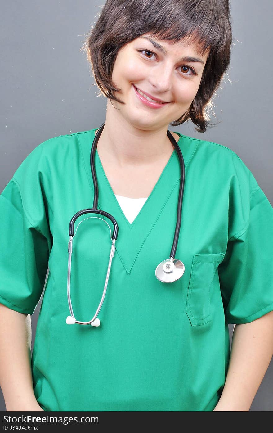
{"label": "woman's bare neck between chin and stethoscope tubing", "polygon": [[107,104],[106,121],[97,145],[100,158],[119,167],[150,165],[173,152],[167,137],[167,125],[161,129],[135,128]]}

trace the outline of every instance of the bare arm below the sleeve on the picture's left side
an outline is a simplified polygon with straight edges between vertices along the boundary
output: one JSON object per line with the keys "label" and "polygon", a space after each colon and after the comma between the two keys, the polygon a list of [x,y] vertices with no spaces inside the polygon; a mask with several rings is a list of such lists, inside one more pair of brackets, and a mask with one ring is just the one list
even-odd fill
{"label": "bare arm below the sleeve on the picture's left side", "polygon": [[0,304],[0,386],[6,410],[42,410],[33,392],[31,319]]}

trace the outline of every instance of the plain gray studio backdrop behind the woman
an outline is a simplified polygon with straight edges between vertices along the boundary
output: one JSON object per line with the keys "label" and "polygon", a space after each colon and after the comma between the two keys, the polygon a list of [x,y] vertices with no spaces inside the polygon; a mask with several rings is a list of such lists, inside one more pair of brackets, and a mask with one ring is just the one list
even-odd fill
{"label": "plain gray studio backdrop behind the woman", "polygon": [[[106,98],[90,75],[80,48],[103,0],[2,2],[0,191],[43,141],[99,127]],[[214,99],[221,123],[206,133],[192,123],[170,128],[234,150],[273,204],[272,13],[270,0],[231,0],[231,67]],[[32,315],[32,346],[41,300]],[[233,326],[230,326],[230,334]],[[273,410],[273,361],[251,411]],[[0,392],[0,410],[5,403]]]}

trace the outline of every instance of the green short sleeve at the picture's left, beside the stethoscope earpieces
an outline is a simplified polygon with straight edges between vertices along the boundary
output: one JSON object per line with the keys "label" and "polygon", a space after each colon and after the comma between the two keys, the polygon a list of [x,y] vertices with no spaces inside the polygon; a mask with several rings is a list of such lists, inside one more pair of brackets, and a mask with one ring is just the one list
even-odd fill
{"label": "green short sleeve at the picture's left, beside the stethoscope earpieces", "polygon": [[41,176],[33,155],[26,158],[15,173],[17,178],[13,177],[0,195],[0,303],[25,314],[33,313],[41,297],[52,246]]}

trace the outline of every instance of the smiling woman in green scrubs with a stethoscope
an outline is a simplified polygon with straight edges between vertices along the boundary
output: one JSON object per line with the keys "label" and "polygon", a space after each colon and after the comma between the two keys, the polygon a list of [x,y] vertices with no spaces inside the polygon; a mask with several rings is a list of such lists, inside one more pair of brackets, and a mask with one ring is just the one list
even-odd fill
{"label": "smiling woman in green scrubs with a stethoscope", "polygon": [[[199,132],[209,126],[206,110],[230,47],[228,1],[106,1],[84,45],[108,98],[103,129],[37,146],[0,197],[2,317],[16,323],[32,314],[50,271],[32,368],[26,350],[14,357],[26,366],[17,398],[12,375],[3,374],[8,361],[2,367],[7,410],[249,410],[272,355],[273,209],[230,149],[167,135],[169,123],[187,119]],[[100,326],[71,326],[95,317],[112,245],[106,216],[80,215],[70,254],[71,313],[68,228],[94,198],[97,132],[98,210],[115,218],[119,233],[93,323]],[[166,284],[155,269],[171,257],[177,223],[176,144],[185,185],[175,259],[184,268]],[[231,356],[228,323],[236,324]],[[3,334],[1,342],[6,349]]]}

